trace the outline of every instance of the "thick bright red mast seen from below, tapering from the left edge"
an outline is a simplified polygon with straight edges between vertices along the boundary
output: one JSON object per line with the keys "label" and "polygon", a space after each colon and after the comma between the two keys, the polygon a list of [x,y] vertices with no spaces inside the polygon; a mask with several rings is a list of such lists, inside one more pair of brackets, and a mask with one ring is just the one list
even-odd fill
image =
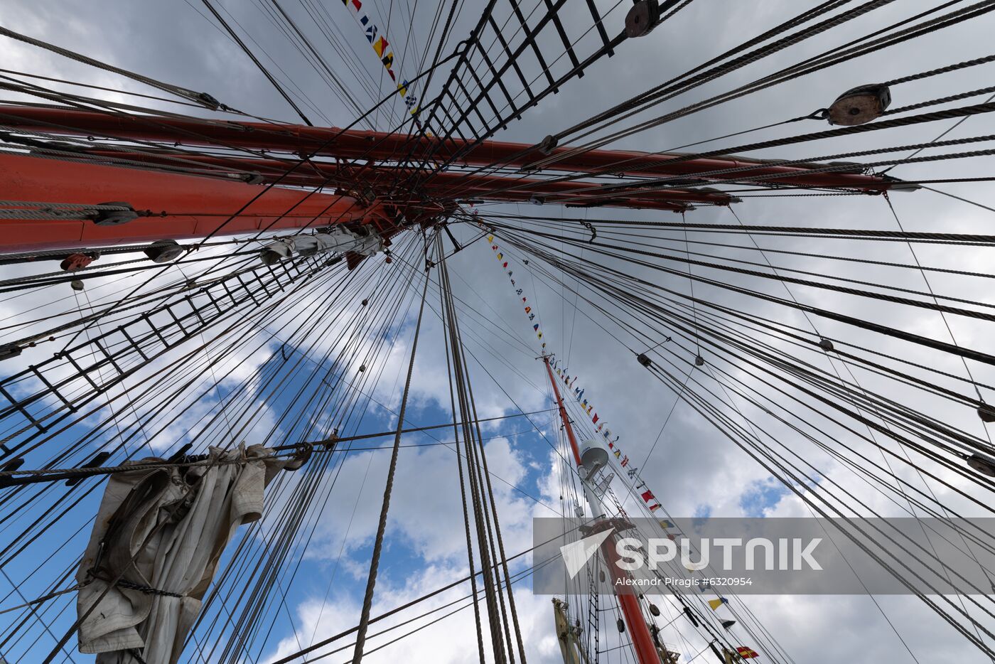
{"label": "thick bright red mast seen from below, tapering from the left edge", "polygon": [[4,182],[2,197],[8,202],[120,202],[138,213],[119,223],[112,219],[99,223],[80,218],[4,218],[5,212],[12,214],[13,206],[8,206],[0,210],[0,253],[185,240],[345,222],[389,224],[378,208],[364,207],[349,196],[267,189],[196,175],[153,175],[146,170],[33,156],[0,155],[0,181]]}

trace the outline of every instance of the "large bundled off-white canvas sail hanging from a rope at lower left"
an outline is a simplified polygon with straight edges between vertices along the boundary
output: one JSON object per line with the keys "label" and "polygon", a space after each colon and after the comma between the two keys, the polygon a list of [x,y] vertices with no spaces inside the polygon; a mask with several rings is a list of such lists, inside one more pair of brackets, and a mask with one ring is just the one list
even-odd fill
{"label": "large bundled off-white canvas sail hanging from a rope at lower left", "polygon": [[77,573],[80,651],[100,664],[175,663],[221,553],[262,517],[264,488],[293,463],[253,445],[111,475]]}

